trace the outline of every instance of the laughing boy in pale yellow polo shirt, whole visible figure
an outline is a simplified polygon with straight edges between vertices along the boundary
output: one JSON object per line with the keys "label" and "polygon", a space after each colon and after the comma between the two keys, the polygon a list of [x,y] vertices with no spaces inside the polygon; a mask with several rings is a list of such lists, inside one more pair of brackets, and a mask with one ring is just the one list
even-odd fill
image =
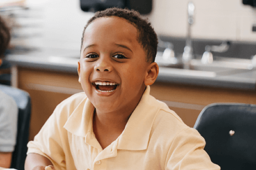
{"label": "laughing boy in pale yellow polo shirt, whole visible figure", "polygon": [[220,169],[205,141],[150,96],[157,36],[130,10],[100,11],[84,27],[75,94],[28,143],[26,169]]}

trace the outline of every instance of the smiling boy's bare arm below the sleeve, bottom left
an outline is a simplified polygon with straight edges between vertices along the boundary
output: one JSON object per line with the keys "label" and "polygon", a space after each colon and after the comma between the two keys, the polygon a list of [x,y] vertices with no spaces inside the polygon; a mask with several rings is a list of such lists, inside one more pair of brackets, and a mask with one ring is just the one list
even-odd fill
{"label": "smiling boy's bare arm below the sleeve, bottom left", "polygon": [[47,157],[37,153],[29,153],[26,157],[25,170],[44,170],[46,166],[51,166],[54,170],[52,162]]}

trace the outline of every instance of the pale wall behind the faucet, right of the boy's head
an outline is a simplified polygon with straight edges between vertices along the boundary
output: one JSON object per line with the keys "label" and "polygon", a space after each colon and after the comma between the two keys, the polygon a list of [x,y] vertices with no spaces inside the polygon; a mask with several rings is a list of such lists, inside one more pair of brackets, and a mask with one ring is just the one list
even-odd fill
{"label": "pale wall behind the faucet, right of the boy's head", "polygon": [[[186,36],[189,0],[155,0],[150,20],[157,33]],[[256,10],[242,0],[193,0],[193,38],[256,41]]]}

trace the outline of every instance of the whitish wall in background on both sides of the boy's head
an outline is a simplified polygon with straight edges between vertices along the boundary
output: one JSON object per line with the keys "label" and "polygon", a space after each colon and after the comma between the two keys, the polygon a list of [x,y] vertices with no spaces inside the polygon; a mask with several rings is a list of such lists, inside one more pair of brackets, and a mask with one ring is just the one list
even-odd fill
{"label": "whitish wall in background on both sides of the boy's head", "polygon": [[[41,39],[30,45],[79,49],[81,34],[93,13],[84,13],[79,0],[27,0],[40,8]],[[195,24],[192,38],[256,41],[256,10],[244,6],[242,0],[193,0]],[[188,0],[154,0],[148,17],[157,34],[186,36]],[[31,43],[33,42],[33,43]]]}

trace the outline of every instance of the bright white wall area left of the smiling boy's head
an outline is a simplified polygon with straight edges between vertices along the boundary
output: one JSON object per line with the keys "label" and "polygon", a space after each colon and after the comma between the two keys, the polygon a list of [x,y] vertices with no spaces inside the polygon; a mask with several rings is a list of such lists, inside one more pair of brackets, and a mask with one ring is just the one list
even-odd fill
{"label": "bright white wall area left of the smiling boy's head", "polygon": [[[80,9],[79,0],[27,0],[31,7],[31,22],[37,22],[40,37],[29,39],[31,46],[79,50],[83,27],[93,13]],[[28,20],[28,19],[27,19]]]}

